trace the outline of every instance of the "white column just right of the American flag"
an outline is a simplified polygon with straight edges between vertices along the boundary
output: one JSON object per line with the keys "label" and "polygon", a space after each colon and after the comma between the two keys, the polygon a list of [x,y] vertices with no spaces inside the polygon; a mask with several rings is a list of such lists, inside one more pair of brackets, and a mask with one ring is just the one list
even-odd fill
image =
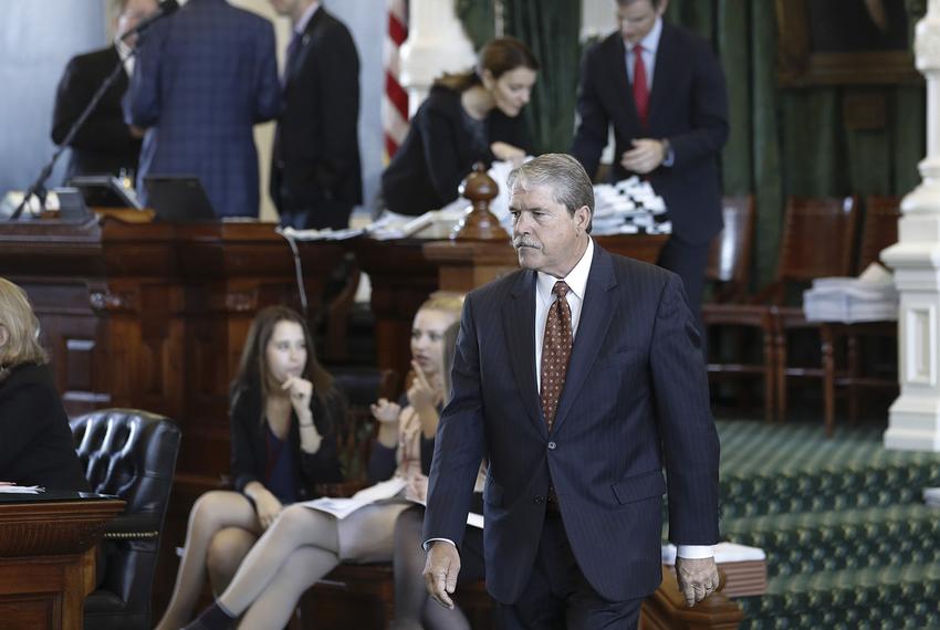
{"label": "white column just right of the American flag", "polygon": [[409,115],[445,72],[462,72],[477,62],[473,44],[457,18],[455,0],[411,0],[408,39],[401,46],[401,76],[408,91]]}

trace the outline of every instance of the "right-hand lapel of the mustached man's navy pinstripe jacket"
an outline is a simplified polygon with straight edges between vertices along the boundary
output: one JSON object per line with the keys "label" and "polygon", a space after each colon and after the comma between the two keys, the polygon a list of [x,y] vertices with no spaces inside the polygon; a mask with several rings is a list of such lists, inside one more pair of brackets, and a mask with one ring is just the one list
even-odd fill
{"label": "right-hand lapel of the mustached man's navy pinstripe jacket", "polygon": [[587,287],[584,291],[577,336],[572,348],[571,363],[568,363],[562,397],[558,400],[553,431],[561,430],[584,385],[584,379],[587,378],[591,367],[597,360],[600,345],[607,337],[607,329],[614,319],[616,304],[613,290],[616,286],[617,279],[614,275],[610,254],[595,243],[594,261],[591,263],[591,274],[587,276]]}

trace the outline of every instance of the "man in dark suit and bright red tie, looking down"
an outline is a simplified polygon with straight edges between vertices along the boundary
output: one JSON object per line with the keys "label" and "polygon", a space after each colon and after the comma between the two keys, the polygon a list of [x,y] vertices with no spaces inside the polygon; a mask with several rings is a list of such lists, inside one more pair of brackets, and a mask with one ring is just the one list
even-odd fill
{"label": "man in dark suit and bright red tie, looking down", "polygon": [[672,237],[658,264],[682,279],[701,329],[708,249],[722,224],[728,96],[708,43],[662,21],[667,4],[617,0],[620,30],[584,59],[572,155],[594,177],[614,126],[610,180],[647,178],[666,201]]}

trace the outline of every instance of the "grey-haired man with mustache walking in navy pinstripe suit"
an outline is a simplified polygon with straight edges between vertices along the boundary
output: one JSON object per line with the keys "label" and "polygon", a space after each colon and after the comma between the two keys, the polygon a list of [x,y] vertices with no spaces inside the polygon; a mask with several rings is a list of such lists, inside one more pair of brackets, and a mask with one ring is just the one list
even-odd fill
{"label": "grey-haired man with mustache walking in navy pinstripe suit", "polygon": [[[502,628],[635,627],[662,578],[661,495],[691,605],[718,586],[719,445],[681,281],[591,237],[571,156],[508,182],[523,267],[467,296],[438,428],[425,579],[451,606],[476,471]],[[666,479],[662,469],[666,470]]]}

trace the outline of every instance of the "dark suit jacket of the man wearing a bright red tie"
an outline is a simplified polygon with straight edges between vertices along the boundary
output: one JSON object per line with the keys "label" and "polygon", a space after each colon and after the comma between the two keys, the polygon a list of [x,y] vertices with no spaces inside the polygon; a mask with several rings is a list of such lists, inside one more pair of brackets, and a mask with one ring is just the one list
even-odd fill
{"label": "dark suit jacket of the man wearing a bright red tie", "polygon": [[634,139],[668,139],[676,161],[654,170],[649,181],[666,201],[673,233],[688,243],[706,244],[722,224],[719,158],[728,138],[724,74],[704,40],[664,22],[645,129],[637,117],[625,52],[617,32],[585,55],[577,102],[581,124],[572,155],[594,177],[612,124],[616,144],[610,179],[617,181],[631,175],[620,166],[620,156]]}

